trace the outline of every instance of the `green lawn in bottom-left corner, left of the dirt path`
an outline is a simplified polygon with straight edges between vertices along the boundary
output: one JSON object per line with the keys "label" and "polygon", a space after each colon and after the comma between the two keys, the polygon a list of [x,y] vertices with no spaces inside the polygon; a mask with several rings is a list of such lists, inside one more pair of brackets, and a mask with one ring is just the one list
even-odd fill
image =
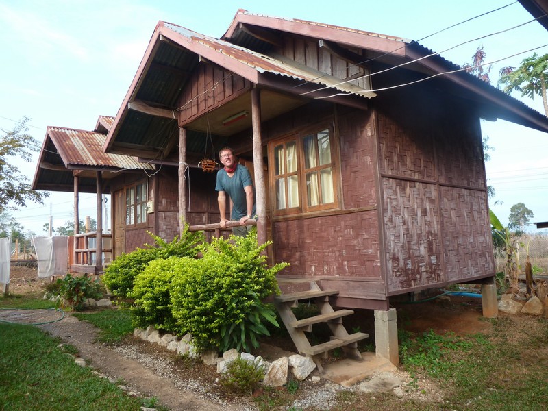
{"label": "green lawn in bottom-left corner, left of the dirt path", "polygon": [[75,364],[59,343],[36,327],[0,323],[0,410],[139,410],[141,399]]}

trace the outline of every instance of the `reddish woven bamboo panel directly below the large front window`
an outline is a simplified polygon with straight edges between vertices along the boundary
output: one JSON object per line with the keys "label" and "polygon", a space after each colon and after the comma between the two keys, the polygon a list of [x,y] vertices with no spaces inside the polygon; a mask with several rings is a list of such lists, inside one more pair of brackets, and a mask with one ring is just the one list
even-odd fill
{"label": "reddish woven bamboo panel directly below the large front window", "polygon": [[274,223],[275,259],[284,275],[380,277],[377,212]]}

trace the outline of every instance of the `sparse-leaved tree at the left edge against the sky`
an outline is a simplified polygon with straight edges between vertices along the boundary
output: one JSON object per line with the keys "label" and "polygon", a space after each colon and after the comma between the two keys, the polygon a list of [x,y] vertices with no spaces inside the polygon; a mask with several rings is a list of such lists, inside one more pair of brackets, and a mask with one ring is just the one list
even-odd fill
{"label": "sparse-leaved tree at the left edge against the sky", "polygon": [[[21,174],[12,161],[19,158],[30,162],[32,153],[40,150],[40,143],[30,136],[27,127],[27,117],[18,121],[10,132],[0,136],[0,212],[8,210],[8,203],[24,207],[27,201],[42,204],[48,192],[32,190],[27,177]],[[13,207],[12,207],[13,208]]]}

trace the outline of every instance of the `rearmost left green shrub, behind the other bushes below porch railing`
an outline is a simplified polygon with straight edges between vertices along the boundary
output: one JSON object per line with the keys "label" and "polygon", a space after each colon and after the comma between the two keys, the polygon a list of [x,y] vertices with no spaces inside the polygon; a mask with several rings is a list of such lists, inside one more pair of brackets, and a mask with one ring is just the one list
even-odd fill
{"label": "rearmost left green shrub, behind the other bushes below porch railing", "polygon": [[171,256],[195,257],[198,253],[196,246],[205,239],[203,232],[190,232],[188,225],[185,225],[181,238],[177,236],[171,242],[149,234],[155,245],[145,245],[146,248],[138,248],[127,254],[122,253],[105,270],[102,279],[112,294],[129,297],[135,277],[145,270],[149,262]]}

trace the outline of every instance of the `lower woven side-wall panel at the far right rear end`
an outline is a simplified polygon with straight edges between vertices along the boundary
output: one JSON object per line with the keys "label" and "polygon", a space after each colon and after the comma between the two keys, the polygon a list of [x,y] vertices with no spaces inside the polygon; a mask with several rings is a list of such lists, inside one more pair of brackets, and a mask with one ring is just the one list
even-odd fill
{"label": "lower woven side-wall panel at the far right rear end", "polygon": [[447,279],[493,275],[493,243],[486,194],[441,187],[443,248]]}

